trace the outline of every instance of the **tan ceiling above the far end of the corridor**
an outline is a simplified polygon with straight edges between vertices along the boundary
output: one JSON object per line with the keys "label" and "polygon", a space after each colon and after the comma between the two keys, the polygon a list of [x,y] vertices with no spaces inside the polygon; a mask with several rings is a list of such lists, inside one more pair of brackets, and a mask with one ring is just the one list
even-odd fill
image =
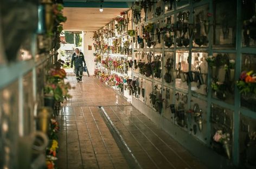
{"label": "tan ceiling above the far end of the corridor", "polygon": [[96,31],[129,8],[103,9],[100,12],[99,8],[64,8],[63,15],[67,17],[63,23],[64,30]]}

